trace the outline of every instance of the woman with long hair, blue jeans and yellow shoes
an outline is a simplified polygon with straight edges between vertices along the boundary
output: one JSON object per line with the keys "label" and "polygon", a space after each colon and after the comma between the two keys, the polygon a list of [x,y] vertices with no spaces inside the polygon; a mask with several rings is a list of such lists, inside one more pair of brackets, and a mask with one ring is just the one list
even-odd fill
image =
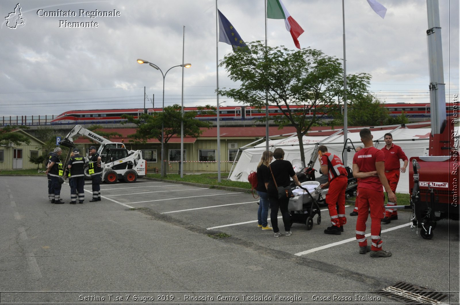
{"label": "woman with long hair, blue jeans and yellow shoes", "polygon": [[257,210],[257,226],[262,230],[273,230],[268,225],[268,209],[270,208],[270,202],[268,201],[267,185],[270,180],[270,171],[268,165],[273,159],[273,153],[265,151],[262,153],[259,164],[257,165],[257,194],[260,196],[259,209]]}

